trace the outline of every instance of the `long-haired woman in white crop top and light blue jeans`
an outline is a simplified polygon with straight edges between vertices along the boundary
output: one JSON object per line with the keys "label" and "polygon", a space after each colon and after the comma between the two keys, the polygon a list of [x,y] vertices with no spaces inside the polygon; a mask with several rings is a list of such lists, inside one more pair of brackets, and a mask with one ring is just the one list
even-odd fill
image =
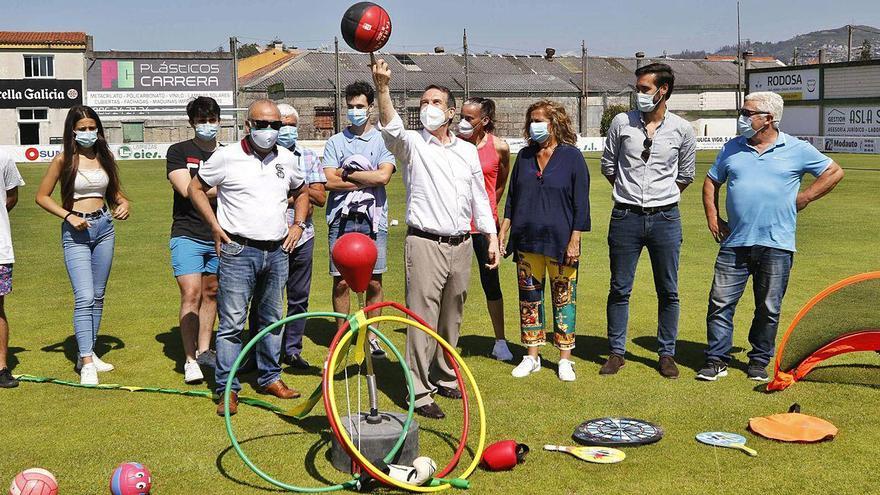
{"label": "long-haired woman in white crop top and light blue jeans", "polygon": [[[61,183],[61,204],[52,199]],[[98,372],[113,365],[94,353],[104,289],[113,262],[113,219],[128,218],[128,199],[119,184],[116,160],[91,107],[70,109],[64,122],[64,150],[52,160],[37,190],[37,204],[62,218],[64,264],[73,286],[73,333],[79,347],[80,383],[98,384]]]}

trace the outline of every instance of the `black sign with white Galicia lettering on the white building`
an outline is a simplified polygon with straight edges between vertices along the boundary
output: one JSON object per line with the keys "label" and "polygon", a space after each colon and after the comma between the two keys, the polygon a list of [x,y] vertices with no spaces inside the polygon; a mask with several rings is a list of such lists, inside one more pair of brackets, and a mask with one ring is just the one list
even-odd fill
{"label": "black sign with white Galicia lettering on the white building", "polygon": [[77,79],[0,79],[0,108],[70,108],[82,104]]}

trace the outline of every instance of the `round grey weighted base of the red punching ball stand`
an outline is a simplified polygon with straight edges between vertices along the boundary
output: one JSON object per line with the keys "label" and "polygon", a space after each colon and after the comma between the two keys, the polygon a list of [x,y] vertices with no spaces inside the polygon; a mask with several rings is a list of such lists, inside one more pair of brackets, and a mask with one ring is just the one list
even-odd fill
{"label": "round grey weighted base of the red punching ball stand", "polygon": [[[349,416],[341,418],[340,425],[345,428],[352,443],[360,445],[360,452],[375,465],[382,465],[383,458],[391,452],[391,448],[400,438],[403,423],[406,421],[405,414],[382,412],[375,418],[370,418],[369,413],[353,414],[351,424],[354,432],[349,429]],[[357,428],[360,420],[361,438],[358,443]],[[409,425],[406,440],[397,452],[397,456],[391,460],[392,464],[411,466],[412,461],[419,456],[419,425],[413,420]],[[342,445],[333,437],[330,447],[330,462],[336,469],[351,473],[351,458],[342,448]]]}

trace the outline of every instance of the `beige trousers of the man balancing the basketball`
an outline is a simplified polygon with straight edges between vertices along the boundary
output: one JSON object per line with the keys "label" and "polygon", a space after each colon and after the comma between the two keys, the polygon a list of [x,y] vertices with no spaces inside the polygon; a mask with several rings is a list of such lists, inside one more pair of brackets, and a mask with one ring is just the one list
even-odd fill
{"label": "beige trousers of the man balancing the basketball", "polygon": [[[406,305],[452,347],[458,344],[461,315],[471,279],[472,241],[457,246],[413,235],[406,237]],[[413,327],[406,333],[406,363],[413,374],[415,407],[433,402],[438,385],[458,388],[443,347]]]}

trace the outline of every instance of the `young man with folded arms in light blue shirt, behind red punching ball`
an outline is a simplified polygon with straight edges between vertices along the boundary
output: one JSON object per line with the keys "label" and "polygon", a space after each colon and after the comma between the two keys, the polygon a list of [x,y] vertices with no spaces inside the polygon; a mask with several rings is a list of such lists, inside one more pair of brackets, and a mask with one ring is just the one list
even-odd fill
{"label": "young man with folded arms in light blue shirt, behind red punching ball", "polygon": [[[360,232],[376,241],[379,257],[373,268],[373,277],[367,288],[366,303],[382,301],[382,274],[387,270],[388,200],[385,186],[395,170],[394,155],[385,147],[382,135],[370,122],[375,92],[369,83],[357,81],[345,88],[345,103],[351,125],[334,134],[324,146],[324,175],[327,198],[327,235],[330,251],[336,239],[348,232]],[[368,194],[362,194],[368,193]],[[357,193],[357,194],[356,194]],[[353,196],[360,199],[353,204]],[[368,202],[369,204],[365,203]],[[333,310],[349,314],[351,308],[348,284],[330,257],[330,275],[333,276]],[[375,316],[372,313],[370,316]],[[338,325],[344,320],[339,319]],[[373,356],[385,352],[371,336]]]}

